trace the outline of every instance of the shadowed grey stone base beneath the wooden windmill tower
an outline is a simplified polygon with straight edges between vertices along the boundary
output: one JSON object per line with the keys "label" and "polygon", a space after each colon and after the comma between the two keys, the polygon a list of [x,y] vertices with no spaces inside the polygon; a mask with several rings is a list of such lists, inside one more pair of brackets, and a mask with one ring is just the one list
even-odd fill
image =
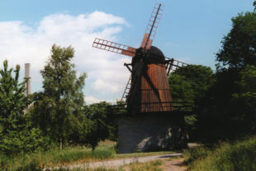
{"label": "shadowed grey stone base beneath the wooden windmill tower", "polygon": [[119,153],[178,150],[187,146],[181,113],[145,113],[118,118]]}

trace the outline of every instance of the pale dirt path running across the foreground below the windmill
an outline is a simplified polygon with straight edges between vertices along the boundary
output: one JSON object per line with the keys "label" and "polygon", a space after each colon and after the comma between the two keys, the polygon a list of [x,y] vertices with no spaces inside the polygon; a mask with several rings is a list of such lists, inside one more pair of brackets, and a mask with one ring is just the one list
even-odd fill
{"label": "pale dirt path running across the foreground below the windmill", "polygon": [[[106,168],[106,169],[118,169],[122,165],[131,164],[135,162],[145,163],[156,159],[163,159],[164,164],[161,166],[164,170],[172,171],[184,171],[183,159],[171,159],[173,157],[182,156],[181,153],[169,154],[169,155],[152,155],[147,157],[134,157],[129,159],[114,159],[114,160],[103,160],[100,162],[93,163],[84,163],[84,164],[70,164],[61,167],[55,167],[52,169],[97,169],[97,168]],[[52,170],[45,169],[45,170]]]}

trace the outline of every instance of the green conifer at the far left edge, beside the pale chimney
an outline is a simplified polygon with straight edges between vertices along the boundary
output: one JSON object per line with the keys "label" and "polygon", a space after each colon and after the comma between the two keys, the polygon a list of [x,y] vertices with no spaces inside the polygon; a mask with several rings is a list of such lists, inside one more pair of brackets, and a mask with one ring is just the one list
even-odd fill
{"label": "green conifer at the far left edge, beside the pale chimney", "polygon": [[25,83],[18,82],[20,66],[8,69],[8,62],[3,62],[0,70],[0,150],[8,153],[17,152],[22,149],[20,132],[24,127],[24,109],[29,104],[24,95]]}

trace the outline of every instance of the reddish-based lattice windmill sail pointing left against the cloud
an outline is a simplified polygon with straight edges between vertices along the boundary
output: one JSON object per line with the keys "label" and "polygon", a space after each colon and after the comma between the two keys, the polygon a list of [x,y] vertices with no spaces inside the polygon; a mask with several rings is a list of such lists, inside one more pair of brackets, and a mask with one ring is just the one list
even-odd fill
{"label": "reddish-based lattice windmill sail pointing left against the cloud", "polygon": [[136,49],[125,44],[117,44],[105,39],[95,38],[92,47],[97,49],[107,50],[113,53],[124,54],[130,57],[135,57]]}

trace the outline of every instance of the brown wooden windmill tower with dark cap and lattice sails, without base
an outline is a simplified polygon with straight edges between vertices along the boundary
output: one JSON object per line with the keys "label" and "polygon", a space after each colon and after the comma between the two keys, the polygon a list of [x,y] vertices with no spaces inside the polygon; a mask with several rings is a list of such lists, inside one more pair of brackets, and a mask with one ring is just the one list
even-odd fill
{"label": "brown wooden windmill tower with dark cap and lattice sails, without base", "polygon": [[155,113],[173,111],[173,100],[168,83],[168,74],[187,65],[173,58],[165,58],[152,42],[163,15],[163,5],[156,3],[149,18],[140,48],[117,44],[105,39],[94,39],[92,47],[130,56],[131,63],[125,66],[131,72],[122,100],[128,113]]}

